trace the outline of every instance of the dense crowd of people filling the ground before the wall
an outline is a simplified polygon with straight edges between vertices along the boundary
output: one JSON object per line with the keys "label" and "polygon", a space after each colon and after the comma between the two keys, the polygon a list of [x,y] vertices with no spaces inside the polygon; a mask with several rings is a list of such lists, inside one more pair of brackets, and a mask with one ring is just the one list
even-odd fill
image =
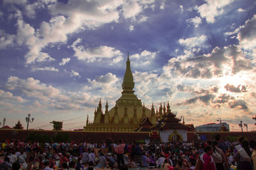
{"label": "dense crowd of people filling the ground before the wall", "polygon": [[[239,169],[256,170],[256,141],[173,143],[112,142],[24,142],[0,143],[0,170],[9,169]],[[234,166],[233,166],[234,165]]]}

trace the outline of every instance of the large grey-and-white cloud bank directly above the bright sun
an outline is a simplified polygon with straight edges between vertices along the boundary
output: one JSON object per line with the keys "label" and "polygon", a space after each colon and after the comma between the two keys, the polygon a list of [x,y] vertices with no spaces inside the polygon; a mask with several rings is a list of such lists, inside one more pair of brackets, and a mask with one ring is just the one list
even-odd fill
{"label": "large grey-and-white cloud bank directly above the bright sun", "polygon": [[[188,41],[190,42],[190,41]],[[188,46],[190,43],[187,43]],[[212,78],[228,74],[236,74],[239,71],[250,70],[250,59],[244,57],[243,51],[236,45],[230,45],[223,49],[216,47],[211,53],[193,56],[191,59],[184,59],[183,56],[172,58],[168,66],[163,67],[165,73],[191,78]]]}

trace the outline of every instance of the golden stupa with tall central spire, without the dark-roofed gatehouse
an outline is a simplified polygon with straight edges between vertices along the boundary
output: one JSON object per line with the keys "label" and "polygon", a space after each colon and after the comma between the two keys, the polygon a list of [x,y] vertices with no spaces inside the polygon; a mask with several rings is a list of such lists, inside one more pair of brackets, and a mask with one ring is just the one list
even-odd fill
{"label": "golden stupa with tall central spire, without the dark-roofed gatehouse", "polygon": [[111,108],[111,110],[108,110],[107,101],[104,113],[102,111],[102,103],[99,101],[99,106],[94,112],[94,120],[89,123],[87,117],[84,131],[132,132],[138,129],[140,123],[147,117],[153,125],[156,125],[157,119],[162,118],[163,111],[166,111],[165,106],[164,108],[160,106],[159,113],[155,113],[153,104],[151,110],[146,108],[134,94],[133,88],[134,81],[128,53],[122,83],[122,96],[116,101],[115,107]]}

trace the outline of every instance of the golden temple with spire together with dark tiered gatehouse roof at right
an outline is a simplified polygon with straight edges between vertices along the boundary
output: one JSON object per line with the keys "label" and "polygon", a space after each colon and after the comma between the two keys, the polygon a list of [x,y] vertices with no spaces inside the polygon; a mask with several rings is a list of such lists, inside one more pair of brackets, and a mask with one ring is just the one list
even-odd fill
{"label": "golden temple with spire together with dark tiered gatehouse roof at right", "polygon": [[[157,138],[159,134],[158,132],[156,133],[156,130],[163,129],[168,126],[168,129],[175,129],[172,131],[175,131],[178,138],[186,139],[183,132],[185,132],[188,127],[181,124],[180,119],[175,118],[176,115],[171,112],[169,103],[167,106],[165,106],[165,104],[163,104],[163,106],[160,104],[159,111],[154,108],[153,103],[152,108],[148,109],[134,94],[133,88],[134,80],[128,53],[124,80],[122,83],[122,96],[116,101],[115,106],[110,110],[108,108],[108,101],[106,101],[105,109],[103,111],[102,101],[99,100],[99,105],[94,111],[93,122],[90,123],[87,117],[84,131],[150,132],[152,136]],[[179,134],[177,130],[182,134]]]}

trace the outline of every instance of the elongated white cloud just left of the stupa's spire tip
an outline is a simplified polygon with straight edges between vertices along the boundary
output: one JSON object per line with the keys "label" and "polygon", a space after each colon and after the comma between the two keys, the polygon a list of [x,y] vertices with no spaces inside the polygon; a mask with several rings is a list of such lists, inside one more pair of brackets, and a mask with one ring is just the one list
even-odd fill
{"label": "elongated white cloud just left of the stupa's spire tip", "polygon": [[119,50],[111,46],[98,46],[95,48],[86,48],[84,46],[78,45],[81,43],[82,39],[78,38],[72,44],[72,48],[75,51],[74,56],[79,60],[88,60],[90,62],[95,61],[97,58],[113,58],[122,55]]}

